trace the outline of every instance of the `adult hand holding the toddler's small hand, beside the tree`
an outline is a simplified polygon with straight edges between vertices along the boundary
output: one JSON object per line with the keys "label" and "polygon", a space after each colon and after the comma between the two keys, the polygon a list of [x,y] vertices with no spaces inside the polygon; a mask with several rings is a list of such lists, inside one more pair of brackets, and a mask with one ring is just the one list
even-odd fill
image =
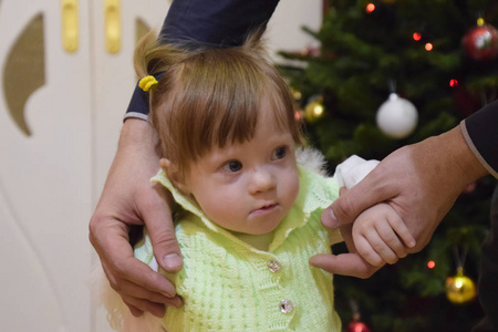
{"label": "adult hand holding the toddler's small hand, beside the tree", "polygon": [[[344,230],[363,210],[385,201],[396,210],[416,240],[408,252],[418,252],[428,243],[460,193],[486,174],[458,126],[388,155],[322,214],[322,224]],[[331,273],[360,278],[369,278],[377,270],[357,253],[319,256],[310,263]]]}

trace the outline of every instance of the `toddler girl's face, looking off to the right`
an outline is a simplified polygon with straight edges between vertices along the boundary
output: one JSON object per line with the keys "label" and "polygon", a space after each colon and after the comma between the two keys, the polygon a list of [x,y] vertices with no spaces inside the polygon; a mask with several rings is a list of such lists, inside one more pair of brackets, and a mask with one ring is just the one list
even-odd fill
{"label": "toddler girl's face, looking off to the right", "polygon": [[261,112],[250,142],[214,147],[185,178],[187,190],[205,214],[229,230],[272,231],[289,212],[299,191],[294,142]]}

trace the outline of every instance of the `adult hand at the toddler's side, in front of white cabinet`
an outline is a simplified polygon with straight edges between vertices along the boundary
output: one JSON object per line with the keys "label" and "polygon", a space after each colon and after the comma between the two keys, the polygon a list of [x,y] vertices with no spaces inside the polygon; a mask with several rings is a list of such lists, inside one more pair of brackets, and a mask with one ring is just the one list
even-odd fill
{"label": "adult hand at the toddler's side, in front of white cabinet", "polygon": [[172,221],[173,200],[149,181],[159,168],[155,152],[157,137],[151,125],[129,118],[123,125],[116,156],[94,215],[90,241],[97,251],[112,288],[131,312],[165,314],[166,305],[181,305],[175,287],[162,274],[133,256],[128,230],[147,225],[159,266],[168,272],[181,269],[181,253]]}

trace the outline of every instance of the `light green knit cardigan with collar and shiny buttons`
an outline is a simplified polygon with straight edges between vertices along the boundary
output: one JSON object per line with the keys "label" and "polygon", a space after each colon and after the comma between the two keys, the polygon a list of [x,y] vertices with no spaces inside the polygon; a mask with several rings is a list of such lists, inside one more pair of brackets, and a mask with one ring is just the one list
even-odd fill
{"label": "light green knit cardigan with collar and shiny buttons", "polygon": [[[166,331],[341,331],[332,276],[308,263],[342,240],[339,231],[330,235],[320,224],[323,209],[339,196],[339,185],[302,167],[299,179],[294,206],[274,230],[269,250],[261,251],[211,222],[159,172],[153,180],[167,187],[184,210],[176,221],[184,269],[177,274],[162,271],[184,305],[166,310]],[[146,231],[135,256],[154,264]]]}

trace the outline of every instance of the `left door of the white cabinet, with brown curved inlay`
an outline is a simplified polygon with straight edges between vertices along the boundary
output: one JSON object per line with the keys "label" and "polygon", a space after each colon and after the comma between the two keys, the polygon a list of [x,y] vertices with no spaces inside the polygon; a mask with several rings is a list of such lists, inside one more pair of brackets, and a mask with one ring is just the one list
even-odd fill
{"label": "left door of the white cabinet, with brown curved inlay", "polygon": [[90,328],[89,40],[66,53],[60,12],[0,2],[0,331]]}

